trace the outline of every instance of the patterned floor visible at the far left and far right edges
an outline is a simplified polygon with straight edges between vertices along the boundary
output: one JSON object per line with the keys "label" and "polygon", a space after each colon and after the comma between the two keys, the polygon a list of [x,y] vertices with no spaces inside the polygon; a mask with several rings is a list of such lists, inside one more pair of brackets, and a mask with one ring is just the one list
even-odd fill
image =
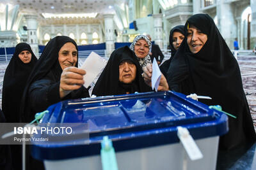
{"label": "patterned floor visible at the far left and far right edges", "polygon": [[[244,92],[256,129],[256,55],[239,55],[237,60],[241,69]],[[3,77],[7,64],[6,62],[0,62],[0,107],[2,107]]]}

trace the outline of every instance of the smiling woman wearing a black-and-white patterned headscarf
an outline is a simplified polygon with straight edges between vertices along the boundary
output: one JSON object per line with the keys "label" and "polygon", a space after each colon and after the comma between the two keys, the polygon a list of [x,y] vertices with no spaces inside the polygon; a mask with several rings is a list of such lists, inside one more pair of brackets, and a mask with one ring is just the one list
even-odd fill
{"label": "smiling woman wearing a black-and-white patterned headscarf", "polygon": [[151,42],[147,36],[136,36],[133,39],[130,48],[132,51],[134,51],[136,57],[138,57],[141,68],[145,67],[148,63],[152,63],[149,55]]}

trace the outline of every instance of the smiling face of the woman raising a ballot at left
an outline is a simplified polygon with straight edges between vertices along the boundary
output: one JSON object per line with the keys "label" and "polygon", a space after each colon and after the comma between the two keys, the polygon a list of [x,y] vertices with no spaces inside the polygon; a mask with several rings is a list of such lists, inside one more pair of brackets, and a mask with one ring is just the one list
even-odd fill
{"label": "smiling face of the woman raising a ballot at left", "polygon": [[76,66],[77,62],[77,50],[76,46],[73,43],[65,43],[60,48],[59,57],[58,57],[61,69],[66,67]]}

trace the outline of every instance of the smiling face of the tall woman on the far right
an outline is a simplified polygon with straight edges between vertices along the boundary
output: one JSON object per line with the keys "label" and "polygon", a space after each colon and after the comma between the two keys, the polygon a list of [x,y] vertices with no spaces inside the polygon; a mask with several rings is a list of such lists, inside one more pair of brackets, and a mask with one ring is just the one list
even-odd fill
{"label": "smiling face of the tall woman on the far right", "polygon": [[198,53],[207,41],[207,34],[197,29],[195,26],[191,25],[188,29],[188,46],[192,53]]}

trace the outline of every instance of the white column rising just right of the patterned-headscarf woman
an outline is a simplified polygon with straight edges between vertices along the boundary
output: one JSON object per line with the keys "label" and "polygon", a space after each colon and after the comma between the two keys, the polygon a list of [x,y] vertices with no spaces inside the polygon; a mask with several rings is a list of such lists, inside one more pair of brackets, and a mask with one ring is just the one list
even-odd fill
{"label": "white column rising just right of the patterned-headscarf woman", "polygon": [[160,48],[163,48],[163,15],[154,14],[154,40]]}

